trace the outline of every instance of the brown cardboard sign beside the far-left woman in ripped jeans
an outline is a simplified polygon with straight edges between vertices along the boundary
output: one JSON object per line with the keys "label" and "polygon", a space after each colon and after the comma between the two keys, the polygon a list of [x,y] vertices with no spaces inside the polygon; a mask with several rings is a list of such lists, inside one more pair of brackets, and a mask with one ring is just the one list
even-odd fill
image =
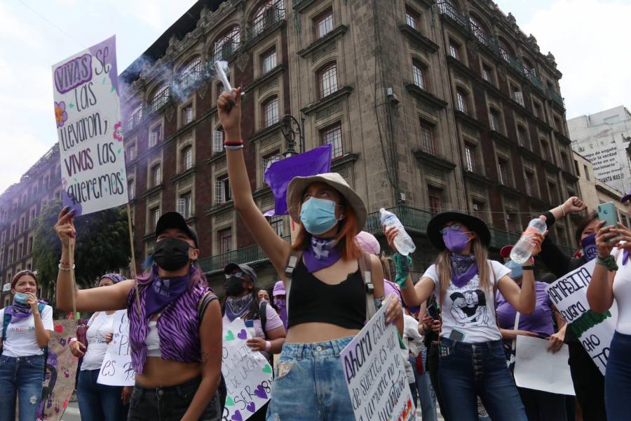
{"label": "brown cardboard sign beside the far-left woman in ripped jeans", "polygon": [[54,324],[48,341],[46,377],[41,389],[37,421],[61,420],[74,391],[76,364],[79,360],[70,352],[69,340],[75,335],[76,321],[55,320]]}

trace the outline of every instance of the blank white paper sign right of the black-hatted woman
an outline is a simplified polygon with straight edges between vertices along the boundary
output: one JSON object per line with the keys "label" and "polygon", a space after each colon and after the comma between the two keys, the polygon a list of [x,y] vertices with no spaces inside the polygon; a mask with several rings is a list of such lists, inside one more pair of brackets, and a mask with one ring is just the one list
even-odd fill
{"label": "blank white paper sign right of the black-hatted woman", "polygon": [[563,345],[559,352],[548,352],[550,341],[517,335],[515,383],[519,387],[574,396],[574,384]]}

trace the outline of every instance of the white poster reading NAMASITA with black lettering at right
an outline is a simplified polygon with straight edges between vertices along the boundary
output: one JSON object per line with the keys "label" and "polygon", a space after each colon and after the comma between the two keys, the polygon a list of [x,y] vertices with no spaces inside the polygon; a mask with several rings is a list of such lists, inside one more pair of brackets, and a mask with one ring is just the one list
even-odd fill
{"label": "white poster reading NAMASITA with black lettering at right", "polygon": [[609,344],[618,320],[618,307],[614,301],[613,307],[603,314],[590,309],[587,288],[595,267],[596,260],[590,260],[562,276],[548,286],[548,295],[604,375],[609,357]]}

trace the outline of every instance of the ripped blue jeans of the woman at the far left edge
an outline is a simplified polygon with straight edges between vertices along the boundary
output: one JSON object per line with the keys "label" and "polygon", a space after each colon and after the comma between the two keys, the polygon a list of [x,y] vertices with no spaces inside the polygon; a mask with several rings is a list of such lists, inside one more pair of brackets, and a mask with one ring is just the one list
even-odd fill
{"label": "ripped blue jeans of the woman at the far left edge", "polygon": [[43,355],[0,356],[0,421],[15,421],[18,398],[20,421],[35,419],[43,385]]}

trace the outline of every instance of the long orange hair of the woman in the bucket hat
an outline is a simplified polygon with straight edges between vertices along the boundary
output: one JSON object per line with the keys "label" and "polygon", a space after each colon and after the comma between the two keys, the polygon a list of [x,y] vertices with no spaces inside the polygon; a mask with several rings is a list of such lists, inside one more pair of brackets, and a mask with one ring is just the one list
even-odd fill
{"label": "long orange hair of the woman in the bucket hat", "polygon": [[[357,215],[355,215],[355,210],[351,208],[344,198],[342,198],[340,206],[344,208],[344,219],[337,225],[338,232],[337,236],[335,236],[335,239],[337,240],[337,247],[339,248],[342,259],[359,259],[362,256],[362,250],[359,248],[357,243],[355,243],[355,236],[358,233]],[[300,208],[301,207],[302,204],[300,205]],[[298,209],[299,214],[301,210],[300,208]],[[304,229],[300,221],[294,222],[298,224],[298,235],[296,236],[296,241],[294,241],[294,244],[292,245],[292,250],[306,250],[306,248],[308,248],[311,244],[311,234],[306,232],[306,229]]]}

